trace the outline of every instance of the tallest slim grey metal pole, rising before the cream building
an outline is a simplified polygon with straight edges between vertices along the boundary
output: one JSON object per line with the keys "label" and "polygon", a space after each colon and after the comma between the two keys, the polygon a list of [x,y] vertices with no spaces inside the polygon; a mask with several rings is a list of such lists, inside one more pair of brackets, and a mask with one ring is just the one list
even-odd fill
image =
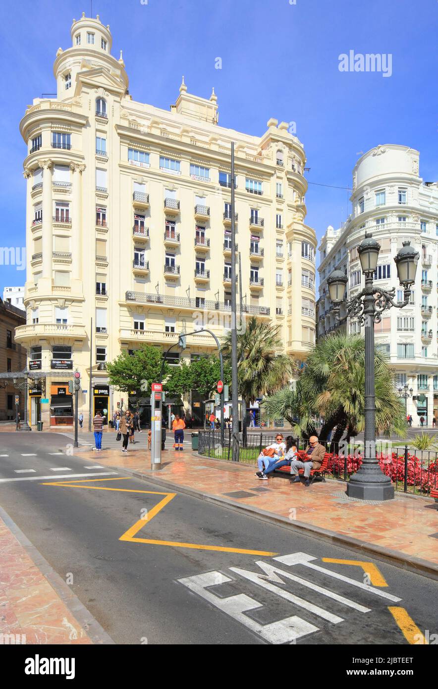
{"label": "tallest slim grey metal pole, rising before the cream building", "polygon": [[233,424],[231,438],[233,462],[239,461],[239,389],[237,360],[237,305],[236,305],[236,223],[234,221],[234,142],[231,142],[231,400]]}

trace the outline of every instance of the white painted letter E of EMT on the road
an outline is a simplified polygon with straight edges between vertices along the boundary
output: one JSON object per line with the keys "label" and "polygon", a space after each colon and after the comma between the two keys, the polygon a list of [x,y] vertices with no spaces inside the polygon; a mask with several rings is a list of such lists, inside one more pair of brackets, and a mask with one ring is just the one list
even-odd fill
{"label": "white painted letter E of EMT on the road", "polygon": [[207,572],[205,574],[196,575],[194,577],[187,577],[187,579],[178,579],[180,584],[187,586],[190,590],[197,593],[205,600],[209,601],[213,606],[219,608],[233,619],[244,624],[255,634],[258,634],[262,639],[269,641],[270,644],[286,644],[300,639],[308,634],[317,632],[318,628],[309,624],[304,619],[294,615],[293,617],[286,617],[280,619],[272,624],[259,624],[244,613],[255,608],[262,608],[262,604],[255,601],[243,593],[239,595],[229,596],[227,598],[220,598],[211,591],[205,590],[209,586],[216,586],[218,584],[227,584],[233,579],[225,577],[220,572]]}

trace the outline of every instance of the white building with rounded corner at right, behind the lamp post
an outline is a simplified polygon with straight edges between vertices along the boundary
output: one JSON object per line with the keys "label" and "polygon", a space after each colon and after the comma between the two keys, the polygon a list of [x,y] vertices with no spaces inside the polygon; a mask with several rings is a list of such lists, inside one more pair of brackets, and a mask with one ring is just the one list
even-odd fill
{"label": "white building with rounded corner at right, behind the lamp post", "polygon": [[[333,331],[327,278],[334,269],[348,275],[347,297],[364,287],[357,245],[371,232],[381,245],[375,274],[376,286],[396,288],[403,302],[394,257],[404,241],[419,253],[417,276],[410,303],[390,309],[375,325],[375,342],[395,373],[395,386],[404,393],[406,412],[413,426],[438,420],[438,183],[419,176],[419,152],[400,145],[379,145],[357,161],[353,169],[353,212],[340,229],[328,227],[320,251],[320,298],[318,336]],[[354,318],[348,330],[359,333]],[[410,390],[412,389],[412,393]]]}

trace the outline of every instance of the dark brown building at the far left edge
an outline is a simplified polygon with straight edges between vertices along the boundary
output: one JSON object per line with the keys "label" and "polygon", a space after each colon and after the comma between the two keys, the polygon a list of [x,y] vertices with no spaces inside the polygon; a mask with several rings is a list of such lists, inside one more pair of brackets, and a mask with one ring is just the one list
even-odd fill
{"label": "dark brown building at the far left edge", "polygon": [[[15,340],[15,329],[25,325],[25,313],[9,302],[0,299],[0,374],[19,373],[25,369],[26,351]],[[17,381],[18,382],[18,381]],[[19,383],[23,382],[20,380]],[[0,376],[0,421],[15,419],[17,407],[15,395],[19,395],[18,411],[24,418],[24,389],[14,384],[13,378]]]}

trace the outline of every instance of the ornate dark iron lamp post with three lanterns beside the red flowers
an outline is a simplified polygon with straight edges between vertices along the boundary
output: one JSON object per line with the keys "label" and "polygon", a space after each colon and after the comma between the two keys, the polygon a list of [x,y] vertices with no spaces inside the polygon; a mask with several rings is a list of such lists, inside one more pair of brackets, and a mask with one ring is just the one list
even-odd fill
{"label": "ornate dark iron lamp post with three lanterns beside the red flowers", "polygon": [[[382,320],[382,312],[390,307],[402,309],[410,299],[410,286],[415,283],[415,272],[419,259],[418,251],[403,243],[403,248],[395,256],[400,285],[404,287],[404,301],[395,302],[395,287],[386,291],[373,285],[373,276],[379,258],[379,243],[369,233],[357,247],[362,273],[365,276],[365,287],[353,299],[344,302],[348,278],[340,270],[335,270],[328,277],[328,291],[333,304],[333,313],[338,322],[348,316],[358,318],[365,329],[365,453],[357,473],[350,477],[346,494],[359,500],[393,500],[394,488],[390,477],[380,469],[375,456],[375,380],[374,380],[374,324]],[[344,302],[346,316],[340,318],[340,306]]]}

